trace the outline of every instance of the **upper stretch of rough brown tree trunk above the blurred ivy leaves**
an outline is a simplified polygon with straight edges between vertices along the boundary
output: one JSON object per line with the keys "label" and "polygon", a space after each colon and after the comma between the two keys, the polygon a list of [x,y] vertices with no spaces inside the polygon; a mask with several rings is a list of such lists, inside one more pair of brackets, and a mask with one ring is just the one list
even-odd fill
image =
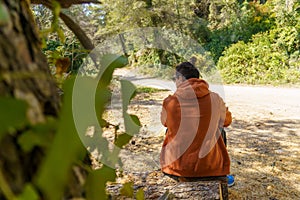
{"label": "upper stretch of rough brown tree trunk above the blurred ivy leaves", "polygon": [[5,0],[8,20],[0,27],[0,95],[12,95],[30,105],[32,123],[59,109],[57,88],[43,55],[29,5]]}

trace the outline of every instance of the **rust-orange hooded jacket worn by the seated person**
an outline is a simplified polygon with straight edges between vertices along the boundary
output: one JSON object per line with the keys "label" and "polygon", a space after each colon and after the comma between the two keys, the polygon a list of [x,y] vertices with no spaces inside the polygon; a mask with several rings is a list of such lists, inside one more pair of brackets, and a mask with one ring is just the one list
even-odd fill
{"label": "rust-orange hooded jacket worn by the seated person", "polygon": [[202,79],[181,83],[163,102],[161,121],[168,128],[162,146],[162,171],[182,177],[229,174],[230,160],[220,128],[231,123],[222,98]]}

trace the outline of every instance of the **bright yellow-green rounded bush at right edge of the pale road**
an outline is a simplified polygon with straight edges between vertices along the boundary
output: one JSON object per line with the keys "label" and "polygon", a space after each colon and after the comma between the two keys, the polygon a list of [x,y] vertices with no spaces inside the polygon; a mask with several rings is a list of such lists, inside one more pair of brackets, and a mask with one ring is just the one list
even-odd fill
{"label": "bright yellow-green rounded bush at right edge of the pale road", "polygon": [[226,83],[284,84],[300,80],[299,32],[286,26],[258,33],[252,41],[232,45],[218,69]]}

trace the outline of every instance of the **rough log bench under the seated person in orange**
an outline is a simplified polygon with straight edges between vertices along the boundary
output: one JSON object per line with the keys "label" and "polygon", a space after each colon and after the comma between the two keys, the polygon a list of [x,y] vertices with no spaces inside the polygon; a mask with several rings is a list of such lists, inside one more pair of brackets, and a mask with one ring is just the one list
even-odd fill
{"label": "rough log bench under the seated person in orange", "polygon": [[[133,181],[135,192],[139,189],[144,190],[145,199],[228,199],[226,176],[178,178],[163,174],[160,170],[150,173],[125,173],[125,175]],[[106,186],[108,193],[113,199],[121,198],[120,190],[122,187],[122,183],[114,183]]]}

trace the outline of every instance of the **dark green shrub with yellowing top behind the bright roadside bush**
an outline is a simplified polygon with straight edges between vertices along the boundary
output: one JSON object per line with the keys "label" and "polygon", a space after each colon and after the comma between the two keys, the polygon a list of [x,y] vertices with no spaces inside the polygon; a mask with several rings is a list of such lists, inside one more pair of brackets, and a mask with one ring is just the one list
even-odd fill
{"label": "dark green shrub with yellowing top behind the bright roadside bush", "polygon": [[268,4],[245,2],[232,7],[222,8],[220,17],[228,18],[229,15],[229,22],[224,26],[222,24],[226,23],[221,20],[217,28],[212,30],[208,43],[204,45],[212,53],[215,62],[226,47],[238,41],[248,42],[252,35],[270,30],[275,25],[275,18]]}

